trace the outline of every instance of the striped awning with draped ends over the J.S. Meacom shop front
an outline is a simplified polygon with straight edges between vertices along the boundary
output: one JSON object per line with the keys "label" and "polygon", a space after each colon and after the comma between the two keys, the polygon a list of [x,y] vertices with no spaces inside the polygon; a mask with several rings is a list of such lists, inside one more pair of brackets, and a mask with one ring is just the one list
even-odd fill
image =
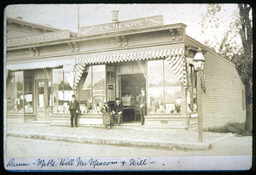
{"label": "striped awning with draped ends over the J.S. Meacom shop front", "polygon": [[101,57],[79,58],[75,60],[74,69],[74,89],[79,85],[79,80],[83,74],[85,65],[119,63],[126,61],[137,61],[145,59],[167,59],[172,71],[187,88],[187,72],[184,57],[184,48],[173,48],[165,50],[155,50],[148,52],[138,52],[131,54],[115,54]]}

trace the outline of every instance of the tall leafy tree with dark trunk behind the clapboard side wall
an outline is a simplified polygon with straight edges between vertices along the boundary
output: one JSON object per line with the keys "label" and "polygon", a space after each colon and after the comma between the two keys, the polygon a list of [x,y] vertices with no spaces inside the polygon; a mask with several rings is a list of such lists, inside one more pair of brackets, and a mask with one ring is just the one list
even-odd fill
{"label": "tall leafy tree with dark trunk behind the clapboard side wall", "polygon": [[[244,3],[237,4],[237,9],[233,14],[233,21],[222,39],[218,40],[213,34],[212,41],[206,40],[204,43],[212,48],[217,54],[229,59],[236,65],[236,69],[241,76],[246,87],[247,118],[246,130],[252,132],[253,120],[253,29],[250,20],[251,6]],[[218,31],[220,25],[219,13],[223,10],[221,4],[207,4],[207,14],[202,16],[202,34],[209,33],[207,30],[213,28]],[[219,32],[218,32],[219,35]],[[241,43],[237,43],[234,38],[240,36]]]}

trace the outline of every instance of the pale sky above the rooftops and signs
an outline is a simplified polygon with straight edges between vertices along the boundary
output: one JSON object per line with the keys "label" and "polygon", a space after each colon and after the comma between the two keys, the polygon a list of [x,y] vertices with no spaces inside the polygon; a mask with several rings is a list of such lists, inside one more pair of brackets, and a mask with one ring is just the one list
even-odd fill
{"label": "pale sky above the rooftops and signs", "polygon": [[[79,7],[79,20],[78,20]],[[111,10],[119,10],[119,20],[131,20],[154,15],[163,15],[164,24],[183,23],[187,25],[186,34],[199,42],[211,40],[212,33],[201,34],[199,24],[202,15],[207,13],[207,4],[22,4],[10,5],[6,8],[6,16],[23,17],[23,20],[51,25],[63,30],[78,32],[80,27],[100,25],[112,22]],[[220,27],[213,31],[216,36],[224,33],[233,20],[232,14],[236,4],[224,4],[222,12],[218,14]]]}

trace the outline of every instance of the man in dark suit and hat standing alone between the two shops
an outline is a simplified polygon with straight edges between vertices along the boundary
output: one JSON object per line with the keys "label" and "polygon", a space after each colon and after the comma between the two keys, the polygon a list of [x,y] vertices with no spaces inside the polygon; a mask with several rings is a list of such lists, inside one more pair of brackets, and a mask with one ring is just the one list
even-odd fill
{"label": "man in dark suit and hat standing alone between the two shops", "polygon": [[69,102],[69,110],[70,110],[70,115],[71,115],[71,127],[73,127],[73,120],[74,120],[74,126],[78,126],[78,116],[79,116],[79,102],[76,100],[75,94],[72,95],[72,101]]}

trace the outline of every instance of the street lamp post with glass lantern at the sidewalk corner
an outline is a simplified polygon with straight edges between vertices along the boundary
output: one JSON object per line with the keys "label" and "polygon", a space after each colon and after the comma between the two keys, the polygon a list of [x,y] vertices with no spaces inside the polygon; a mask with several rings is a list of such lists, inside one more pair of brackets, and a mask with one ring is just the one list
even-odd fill
{"label": "street lamp post with glass lantern at the sidewalk corner", "polygon": [[195,63],[196,72],[196,86],[197,86],[197,111],[198,111],[198,142],[203,140],[202,131],[202,106],[201,106],[201,71],[203,70],[205,58],[201,53],[201,48],[198,48],[198,52],[195,54],[193,59]]}

